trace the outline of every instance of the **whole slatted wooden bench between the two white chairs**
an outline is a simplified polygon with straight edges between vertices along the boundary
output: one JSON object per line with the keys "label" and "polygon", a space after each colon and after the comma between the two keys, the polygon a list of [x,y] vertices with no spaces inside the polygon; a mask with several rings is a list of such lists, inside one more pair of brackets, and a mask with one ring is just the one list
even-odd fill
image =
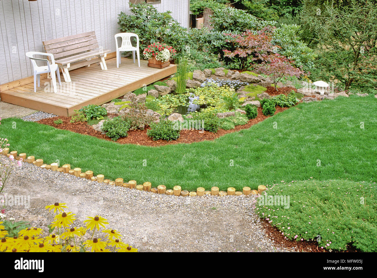
{"label": "whole slatted wooden bench between the two white chairs", "polygon": [[68,69],[89,67],[99,62],[101,68],[107,70],[105,57],[110,50],[99,47],[94,31],[43,41],[43,46],[47,53],[54,55],[66,82],[71,81]]}

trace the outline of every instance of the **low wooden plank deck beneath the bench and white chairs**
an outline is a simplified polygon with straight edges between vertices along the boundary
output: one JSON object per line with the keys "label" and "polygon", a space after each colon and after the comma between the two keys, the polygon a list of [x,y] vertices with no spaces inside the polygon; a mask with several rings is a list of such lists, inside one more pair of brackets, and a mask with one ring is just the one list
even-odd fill
{"label": "low wooden plank deck beneath the bench and white chairs", "polygon": [[45,78],[41,79],[37,92],[34,92],[34,83],[29,83],[0,92],[1,100],[59,116],[72,116],[75,109],[106,103],[176,72],[175,65],[156,69],[148,67],[147,63],[141,60],[139,68],[137,61],[134,64],[132,59],[122,58],[121,65],[116,68],[116,58],[110,58],[106,60],[107,71],[97,64],[74,69],[69,72],[70,83],[64,82],[61,74],[57,93],[54,93],[51,79]]}

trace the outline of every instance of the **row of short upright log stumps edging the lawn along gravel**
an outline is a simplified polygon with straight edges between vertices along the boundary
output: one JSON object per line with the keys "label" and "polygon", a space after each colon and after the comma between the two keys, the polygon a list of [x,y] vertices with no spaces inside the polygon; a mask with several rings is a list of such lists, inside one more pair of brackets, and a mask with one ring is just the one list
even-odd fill
{"label": "row of short upright log stumps edging the lawn along gravel", "polygon": [[[16,159],[17,151],[11,151],[9,148],[4,148],[2,155],[5,155],[9,158],[10,155],[13,155]],[[15,156],[16,155],[16,156]],[[140,191],[147,191],[151,193],[156,194],[164,194],[164,195],[172,195],[172,196],[182,196],[182,197],[196,197],[196,196],[205,196],[205,195],[213,195],[213,196],[256,196],[258,194],[263,194],[265,190],[267,190],[267,186],[259,185],[256,189],[251,190],[250,187],[244,186],[241,191],[236,191],[234,187],[228,187],[227,191],[219,191],[219,187],[213,186],[210,190],[205,190],[204,187],[198,187],[196,191],[187,191],[182,190],[181,186],[174,186],[173,189],[166,189],[165,185],[160,184],[157,187],[152,188],[152,183],[149,181],[144,182],[143,184],[138,184],[135,180],[130,180],[127,182],[124,182],[123,178],[116,178],[114,181],[105,179],[103,174],[98,174],[97,176],[94,176],[93,171],[87,170],[86,172],[81,172],[81,168],[74,168],[71,170],[70,164],[64,164],[62,167],[59,167],[58,163],[51,163],[51,164],[44,164],[43,159],[38,158],[35,159],[33,155],[26,156],[25,153],[21,153],[17,156],[18,159],[22,158],[24,162],[34,164],[37,167],[40,167],[42,169],[51,170],[51,171],[57,171],[61,172],[63,174],[70,174],[74,175],[76,177],[85,178],[90,181],[95,181],[98,183],[108,184],[110,186],[121,186],[126,187],[129,189],[135,189]]]}

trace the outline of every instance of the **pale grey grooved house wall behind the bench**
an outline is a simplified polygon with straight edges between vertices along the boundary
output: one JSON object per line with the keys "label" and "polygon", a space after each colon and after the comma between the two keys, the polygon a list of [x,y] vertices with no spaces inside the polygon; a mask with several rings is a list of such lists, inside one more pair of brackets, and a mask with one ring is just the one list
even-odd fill
{"label": "pale grey grooved house wall behind the bench", "polygon": [[[153,6],[172,11],[188,27],[189,0],[161,0]],[[129,11],[129,0],[0,1],[0,84],[31,76],[25,53],[44,52],[45,40],[95,31],[99,45],[115,51],[121,11]]]}

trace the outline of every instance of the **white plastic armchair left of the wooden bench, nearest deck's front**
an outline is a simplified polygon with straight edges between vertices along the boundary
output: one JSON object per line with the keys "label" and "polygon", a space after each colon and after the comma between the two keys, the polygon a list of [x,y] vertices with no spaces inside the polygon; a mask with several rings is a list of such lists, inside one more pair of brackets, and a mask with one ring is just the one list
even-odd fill
{"label": "white plastic armchair left of the wooden bench, nearest deck's front", "polygon": [[[35,58],[36,55],[49,56],[51,58],[51,64],[48,59]],[[37,92],[37,81],[38,81],[38,87],[40,87],[40,74],[49,72],[51,74],[51,80],[52,80],[52,85],[54,86],[54,92],[56,93],[57,89],[56,89],[55,72],[58,76],[59,85],[61,84],[61,82],[60,82],[59,67],[57,64],[55,64],[54,55],[50,53],[29,51],[29,52],[26,52],[26,57],[30,58],[31,63],[33,65],[33,69],[34,69],[34,92]],[[44,61],[47,63],[47,65],[38,66],[37,61]]]}

